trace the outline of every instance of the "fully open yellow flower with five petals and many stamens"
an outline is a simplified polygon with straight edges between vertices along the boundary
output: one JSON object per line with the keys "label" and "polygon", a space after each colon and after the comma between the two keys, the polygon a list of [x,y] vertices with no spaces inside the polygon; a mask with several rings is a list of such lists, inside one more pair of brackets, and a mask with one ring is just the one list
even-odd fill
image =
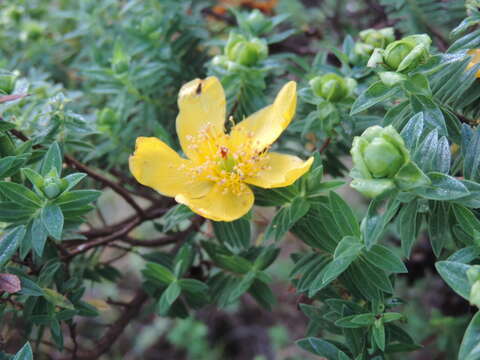
{"label": "fully open yellow flower with five petals and many stamens", "polygon": [[215,77],[185,84],[178,96],[177,134],[188,159],[161,140],[139,137],[130,171],[143,185],[215,221],[233,221],[253,206],[247,184],[262,188],[291,185],[313,158],[268,152],[295,114],[296,83],[287,83],[273,104],[225,133],[226,101]]}

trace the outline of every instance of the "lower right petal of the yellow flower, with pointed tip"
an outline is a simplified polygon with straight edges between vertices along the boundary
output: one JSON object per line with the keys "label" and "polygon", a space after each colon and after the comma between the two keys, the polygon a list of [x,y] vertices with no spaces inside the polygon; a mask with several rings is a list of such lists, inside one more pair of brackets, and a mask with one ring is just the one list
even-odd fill
{"label": "lower right petal of the yellow flower, with pointed tip", "polygon": [[293,155],[271,152],[262,164],[265,165],[265,170],[255,177],[245,179],[245,182],[266,189],[288,186],[305,174],[312,163],[313,157],[303,161]]}

